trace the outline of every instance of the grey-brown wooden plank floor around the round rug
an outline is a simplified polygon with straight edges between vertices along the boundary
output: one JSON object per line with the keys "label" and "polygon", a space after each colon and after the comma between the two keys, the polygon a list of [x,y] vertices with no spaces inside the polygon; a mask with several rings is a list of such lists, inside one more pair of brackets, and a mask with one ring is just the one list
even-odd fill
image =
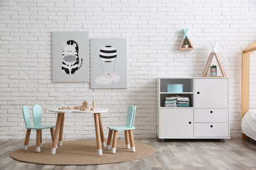
{"label": "grey-brown wooden plank floor around the round rug", "polygon": [[[137,139],[156,148],[147,158],[124,163],[88,166],[38,165],[12,160],[12,151],[23,147],[23,140],[0,141],[0,169],[256,169],[256,142],[253,140],[166,140]],[[50,141],[43,141],[43,143]],[[118,141],[117,141],[118,142]],[[35,144],[34,140],[30,145]]]}

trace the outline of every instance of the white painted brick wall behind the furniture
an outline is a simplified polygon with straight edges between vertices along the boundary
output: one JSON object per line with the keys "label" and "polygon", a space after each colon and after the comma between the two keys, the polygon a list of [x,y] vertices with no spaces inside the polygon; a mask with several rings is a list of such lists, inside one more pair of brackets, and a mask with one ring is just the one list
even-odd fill
{"label": "white painted brick wall behind the furniture", "polygon": [[[242,50],[256,41],[255,11],[254,0],[0,0],[0,139],[24,139],[23,105],[41,105],[43,122],[54,124],[56,115],[48,109],[83,100],[110,109],[102,114],[105,135],[106,126],[125,124],[132,104],[138,108],[135,137],[156,137],[156,78],[201,76],[209,41],[219,41],[230,77],[231,137],[240,137]],[[194,50],[177,50],[182,28],[189,28]],[[90,83],[53,83],[53,31],[126,37],[128,88],[92,90]],[[255,66],[256,59],[251,61]],[[251,68],[254,106],[255,70]],[[66,114],[64,138],[95,138],[93,124],[92,115]],[[43,131],[43,138],[50,138],[50,132]]]}

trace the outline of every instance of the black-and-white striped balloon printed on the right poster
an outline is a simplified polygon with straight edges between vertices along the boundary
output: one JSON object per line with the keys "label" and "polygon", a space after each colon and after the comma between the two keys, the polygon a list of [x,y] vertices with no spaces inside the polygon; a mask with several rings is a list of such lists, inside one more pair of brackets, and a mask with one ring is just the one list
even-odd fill
{"label": "black-and-white striped balloon printed on the right poster", "polygon": [[113,46],[104,46],[100,49],[100,59],[104,62],[112,62],[116,56],[117,51]]}

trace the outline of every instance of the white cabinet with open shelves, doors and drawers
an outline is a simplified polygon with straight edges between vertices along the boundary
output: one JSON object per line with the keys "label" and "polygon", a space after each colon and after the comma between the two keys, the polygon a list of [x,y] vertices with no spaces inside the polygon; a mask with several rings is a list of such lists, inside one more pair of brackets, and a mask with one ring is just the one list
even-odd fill
{"label": "white cabinet with open shelves, doors and drawers", "polygon": [[[183,84],[183,92],[167,92],[167,84]],[[160,139],[227,139],[228,78],[159,78]],[[165,97],[185,96],[190,107],[165,107]]]}

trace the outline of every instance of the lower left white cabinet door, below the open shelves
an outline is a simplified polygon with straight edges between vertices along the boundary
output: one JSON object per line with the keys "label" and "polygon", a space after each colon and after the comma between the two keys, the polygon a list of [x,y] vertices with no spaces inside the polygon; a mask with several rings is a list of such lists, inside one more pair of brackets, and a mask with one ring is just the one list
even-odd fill
{"label": "lower left white cabinet door, below the open shelves", "polygon": [[160,137],[193,137],[193,109],[161,109]]}

